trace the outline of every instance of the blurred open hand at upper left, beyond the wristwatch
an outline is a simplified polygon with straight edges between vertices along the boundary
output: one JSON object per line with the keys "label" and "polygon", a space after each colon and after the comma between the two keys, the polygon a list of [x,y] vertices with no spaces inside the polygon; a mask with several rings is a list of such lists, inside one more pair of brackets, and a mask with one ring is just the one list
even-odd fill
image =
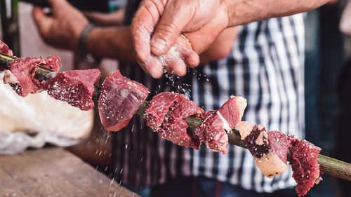
{"label": "blurred open hand at upper left, beyond the wristwatch", "polygon": [[44,41],[62,49],[77,50],[81,32],[88,20],[65,0],[48,0],[52,16],[40,7],[34,7],[32,15]]}

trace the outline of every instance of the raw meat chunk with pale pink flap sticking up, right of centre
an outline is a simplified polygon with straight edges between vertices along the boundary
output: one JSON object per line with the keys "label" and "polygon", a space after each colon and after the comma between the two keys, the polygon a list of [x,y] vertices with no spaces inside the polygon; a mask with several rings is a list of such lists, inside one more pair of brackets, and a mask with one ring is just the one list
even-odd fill
{"label": "raw meat chunk with pale pink flap sticking up, right of centre", "polygon": [[231,97],[218,111],[208,111],[201,118],[204,120],[197,134],[208,148],[227,154],[228,136],[241,120],[246,108],[246,100],[243,97]]}

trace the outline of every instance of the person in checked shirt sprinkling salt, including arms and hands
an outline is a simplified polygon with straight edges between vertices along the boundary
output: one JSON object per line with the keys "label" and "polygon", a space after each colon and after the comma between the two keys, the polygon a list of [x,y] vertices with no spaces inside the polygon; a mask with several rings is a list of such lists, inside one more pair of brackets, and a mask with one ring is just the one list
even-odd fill
{"label": "person in checked shirt sprinkling salt, including arms and hands", "polygon": [[[46,42],[60,48],[72,50],[79,48],[77,46],[79,35],[82,31],[86,31],[86,27],[89,27],[87,26],[88,20],[65,1],[51,0],[50,2],[53,5],[52,17],[44,15],[41,8],[34,8],[33,11],[34,20],[37,22],[41,36]],[[176,12],[189,11],[187,3],[199,3],[198,1],[177,2],[183,2],[184,8],[178,9],[176,6],[168,6],[164,13],[168,13],[170,10]],[[207,5],[208,2],[201,1],[197,5]],[[216,3],[217,1],[213,2]],[[242,95],[248,100],[244,120],[263,124],[268,130],[281,130],[289,135],[302,137],[304,127],[303,15],[263,19],[306,11],[322,5],[326,1],[308,1],[311,2],[308,6],[303,4],[307,4],[307,1],[282,2],[279,4],[286,8],[286,10],[279,9],[279,11],[284,10],[282,13],[274,13],[277,11],[279,4],[273,4],[272,2],[273,6],[267,7],[258,1],[255,1],[259,5],[255,9],[243,8],[243,10],[236,12],[243,13],[238,17],[243,21],[233,23],[227,21],[228,24],[241,25],[251,22],[238,27],[237,41],[234,41],[235,32],[228,33],[230,39],[223,36],[225,41],[216,40],[218,34],[227,27],[227,25],[216,22],[210,23],[214,26],[209,28],[211,30],[208,31],[211,33],[209,36],[208,32],[205,31],[208,26],[195,31],[194,34],[183,32],[192,44],[192,50],[197,53],[205,51],[204,54],[213,55],[211,58],[208,55],[205,59],[200,58],[200,60],[210,62],[191,69],[189,74],[184,77],[169,74],[159,76],[159,64],[150,64],[150,58],[154,60],[157,54],[172,55],[165,51],[167,47],[173,46],[173,41],[167,43],[168,46],[164,48],[165,51],[159,50],[157,53],[153,51],[152,53],[156,55],[150,53],[151,49],[147,49],[150,45],[147,45],[147,43],[150,43],[152,31],[146,29],[146,33],[150,36],[138,33],[138,27],[140,27],[138,25],[142,27],[143,25],[150,25],[147,21],[150,19],[150,15],[143,15],[143,12],[140,15],[139,10],[139,14],[137,13],[133,17],[138,8],[143,9],[143,5],[139,6],[140,1],[128,1],[124,26],[88,29],[89,34],[86,36],[85,49],[95,55],[116,57],[119,60],[129,62],[135,62],[135,57],[131,51],[137,50],[137,60],[141,68],[132,66],[128,62],[121,62],[121,73],[147,86],[151,92],[150,96],[173,90],[184,93],[194,102],[197,102],[199,106],[204,106],[205,110],[209,110],[218,109],[221,104],[229,99],[230,95]],[[159,4],[157,8],[162,8],[163,5]],[[167,3],[167,5],[173,4]],[[215,5],[213,8],[218,7]],[[264,12],[258,13],[258,11]],[[246,18],[246,14],[250,12],[255,13],[254,18]],[[152,10],[151,13],[159,15],[157,9]],[[216,10],[214,12],[197,10],[197,13],[216,15],[217,12]],[[211,14],[208,15],[213,17]],[[227,13],[222,12],[220,15],[222,14],[226,15]],[[189,16],[182,17],[181,19],[184,21],[180,22],[186,24],[189,22],[188,19],[194,19]],[[231,16],[233,18],[237,17],[236,15]],[[205,15],[200,14],[201,17],[206,18]],[[128,25],[131,25],[133,18],[134,22],[130,28]],[[254,20],[261,21],[252,22]],[[206,25],[206,22],[204,24],[200,22],[199,24]],[[156,24],[160,25],[162,22],[154,21],[153,25]],[[179,25],[180,23],[169,22],[168,24]],[[216,27],[216,24],[223,26]],[[56,31],[58,28],[61,32]],[[171,31],[174,34],[173,39],[178,38],[180,32],[182,32],[181,27],[177,30]],[[228,30],[231,29],[225,31]],[[203,34],[204,36],[195,36],[196,34]],[[223,34],[224,32],[221,35]],[[146,37],[143,37],[145,35]],[[160,36],[157,32],[153,35]],[[220,38],[221,36],[218,37],[218,39]],[[143,41],[146,41],[146,43],[143,43]],[[221,47],[215,44],[208,48],[208,45],[213,41],[220,44]],[[228,47],[229,50],[227,46],[230,46]],[[224,52],[215,50],[216,53],[206,53],[206,51],[214,50],[213,48],[224,50]],[[185,49],[182,50],[185,51]],[[185,61],[187,60],[185,59]],[[177,62],[172,66],[168,65],[166,69],[168,72],[173,72],[186,64],[187,62],[183,64]],[[148,74],[160,77],[160,79],[154,79],[152,76],[146,75],[143,69]],[[183,71],[184,69],[178,74],[183,75]],[[291,170],[268,179],[256,168],[249,151],[231,144],[228,148],[228,154],[222,155],[207,149],[204,145],[199,151],[176,146],[159,138],[156,133],[146,127],[145,121],[141,117],[135,116],[127,128],[114,135],[115,177],[121,184],[135,190],[150,186],[150,196],[279,196],[277,190],[288,189],[295,184],[291,176]],[[269,194],[273,191],[276,192]]]}

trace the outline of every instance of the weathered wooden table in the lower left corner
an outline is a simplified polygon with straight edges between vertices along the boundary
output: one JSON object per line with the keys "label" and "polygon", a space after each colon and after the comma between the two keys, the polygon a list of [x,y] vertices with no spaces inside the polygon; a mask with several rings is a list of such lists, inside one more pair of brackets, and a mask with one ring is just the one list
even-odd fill
{"label": "weathered wooden table in the lower left corner", "polygon": [[0,196],[138,196],[62,148],[0,156]]}

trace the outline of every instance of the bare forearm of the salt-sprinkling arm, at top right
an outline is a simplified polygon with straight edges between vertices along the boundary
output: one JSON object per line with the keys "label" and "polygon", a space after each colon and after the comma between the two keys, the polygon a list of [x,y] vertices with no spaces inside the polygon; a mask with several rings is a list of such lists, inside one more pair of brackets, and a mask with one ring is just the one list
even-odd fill
{"label": "bare forearm of the salt-sprinkling arm, at top right", "polygon": [[228,27],[249,22],[303,13],[330,0],[224,0],[229,17]]}

